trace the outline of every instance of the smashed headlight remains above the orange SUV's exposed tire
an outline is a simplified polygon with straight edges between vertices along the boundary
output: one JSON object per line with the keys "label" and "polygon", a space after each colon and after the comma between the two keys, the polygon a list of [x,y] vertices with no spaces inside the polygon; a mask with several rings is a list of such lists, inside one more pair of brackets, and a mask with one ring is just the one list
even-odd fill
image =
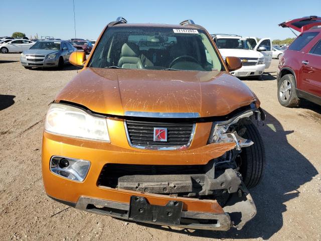
{"label": "smashed headlight remains above the orange SUV's exposed tire", "polygon": [[250,117],[253,114],[253,111],[247,111],[242,113],[228,121],[213,123],[212,131],[209,137],[208,143],[231,143],[236,144],[236,149],[241,150],[242,147],[248,147],[253,145],[253,142],[250,140],[243,139],[240,137],[234,128],[230,130],[230,126],[238,123],[238,121],[245,117]]}

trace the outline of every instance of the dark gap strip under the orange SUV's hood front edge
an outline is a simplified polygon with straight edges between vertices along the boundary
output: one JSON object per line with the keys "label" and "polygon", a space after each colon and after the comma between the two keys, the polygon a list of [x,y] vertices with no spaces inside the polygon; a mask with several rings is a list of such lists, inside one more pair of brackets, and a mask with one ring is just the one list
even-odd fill
{"label": "dark gap strip under the orange SUV's hood front edge", "polygon": [[[260,108],[256,108],[255,101],[252,102],[249,105],[245,105],[242,107],[239,107],[232,112],[226,114],[226,115],[219,115],[219,116],[207,116],[207,117],[192,117],[192,118],[158,118],[158,117],[139,117],[139,116],[127,116],[127,115],[116,115],[116,114],[106,114],[106,113],[99,113],[90,110],[84,105],[66,101],[66,100],[54,100],[53,103],[61,103],[61,104],[67,104],[71,106],[77,106],[79,108],[82,108],[84,111],[87,111],[88,113],[96,116],[105,116],[109,118],[115,118],[115,119],[126,119],[131,121],[141,121],[141,122],[164,122],[164,123],[208,123],[208,122],[226,122],[230,119],[234,119],[238,117],[239,115],[246,113],[248,111],[254,111],[261,113],[261,119],[263,111],[260,110]],[[265,119],[265,117],[264,117]]]}

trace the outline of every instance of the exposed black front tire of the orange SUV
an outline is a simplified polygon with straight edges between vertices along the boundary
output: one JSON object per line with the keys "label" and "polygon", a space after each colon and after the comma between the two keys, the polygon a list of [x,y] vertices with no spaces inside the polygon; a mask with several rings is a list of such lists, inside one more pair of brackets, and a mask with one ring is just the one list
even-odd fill
{"label": "exposed black front tire of the orange SUV", "polygon": [[245,125],[246,132],[243,136],[254,144],[249,147],[242,148],[240,173],[243,182],[248,187],[255,187],[262,179],[265,169],[265,149],[263,140],[257,128],[253,123]]}

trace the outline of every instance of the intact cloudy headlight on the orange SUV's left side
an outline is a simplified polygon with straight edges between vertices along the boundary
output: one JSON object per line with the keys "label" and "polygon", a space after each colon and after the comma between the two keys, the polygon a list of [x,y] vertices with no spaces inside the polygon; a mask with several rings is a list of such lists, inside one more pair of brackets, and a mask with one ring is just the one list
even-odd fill
{"label": "intact cloudy headlight on the orange SUV's left side", "polygon": [[96,117],[66,104],[51,104],[46,116],[45,131],[61,136],[110,142],[105,117]]}

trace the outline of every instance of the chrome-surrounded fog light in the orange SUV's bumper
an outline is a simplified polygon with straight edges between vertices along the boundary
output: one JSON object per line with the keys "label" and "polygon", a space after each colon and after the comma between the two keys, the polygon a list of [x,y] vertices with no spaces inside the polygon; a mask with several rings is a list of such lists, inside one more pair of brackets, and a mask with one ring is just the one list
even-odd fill
{"label": "chrome-surrounded fog light in the orange SUV's bumper", "polygon": [[58,176],[74,181],[85,180],[90,162],[81,159],[53,156],[50,160],[50,171]]}

